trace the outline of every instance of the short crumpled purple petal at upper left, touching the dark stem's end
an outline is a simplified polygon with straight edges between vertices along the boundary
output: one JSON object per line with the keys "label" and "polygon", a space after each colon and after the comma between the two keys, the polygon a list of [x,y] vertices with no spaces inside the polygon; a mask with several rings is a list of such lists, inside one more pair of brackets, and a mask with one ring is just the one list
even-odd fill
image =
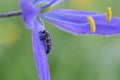
{"label": "short crumpled purple petal at upper left, touching the dark stem's end", "polygon": [[34,19],[38,15],[39,11],[28,0],[20,0],[20,6],[22,9],[22,16],[28,29],[35,27]]}

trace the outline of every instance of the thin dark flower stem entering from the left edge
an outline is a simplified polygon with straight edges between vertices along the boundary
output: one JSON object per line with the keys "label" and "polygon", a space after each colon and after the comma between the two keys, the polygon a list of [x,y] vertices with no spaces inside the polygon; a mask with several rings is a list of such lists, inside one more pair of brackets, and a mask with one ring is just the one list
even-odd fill
{"label": "thin dark flower stem entering from the left edge", "polygon": [[22,11],[13,11],[13,12],[7,12],[7,13],[0,13],[0,18],[5,18],[5,17],[13,17],[13,16],[21,16]]}

